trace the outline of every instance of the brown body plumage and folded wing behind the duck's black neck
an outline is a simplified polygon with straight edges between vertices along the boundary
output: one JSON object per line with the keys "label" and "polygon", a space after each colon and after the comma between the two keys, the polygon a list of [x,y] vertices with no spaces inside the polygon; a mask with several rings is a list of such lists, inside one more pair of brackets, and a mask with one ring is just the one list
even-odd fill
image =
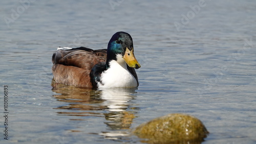
{"label": "brown body plumage and folded wing behind the duck's black neck", "polygon": [[[81,49],[81,50],[77,50]],[[90,72],[94,65],[106,61],[106,49],[79,47],[58,50],[52,56],[52,73],[56,83],[92,88]]]}

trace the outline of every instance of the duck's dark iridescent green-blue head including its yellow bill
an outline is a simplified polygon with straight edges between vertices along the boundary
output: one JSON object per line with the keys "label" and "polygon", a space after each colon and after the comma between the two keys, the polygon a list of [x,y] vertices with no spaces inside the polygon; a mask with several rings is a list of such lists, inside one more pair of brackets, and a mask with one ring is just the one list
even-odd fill
{"label": "duck's dark iridescent green-blue head including its yellow bill", "polygon": [[140,64],[133,52],[133,39],[131,35],[125,32],[117,32],[109,41],[106,62],[117,60],[116,56],[120,54],[128,66],[140,68]]}

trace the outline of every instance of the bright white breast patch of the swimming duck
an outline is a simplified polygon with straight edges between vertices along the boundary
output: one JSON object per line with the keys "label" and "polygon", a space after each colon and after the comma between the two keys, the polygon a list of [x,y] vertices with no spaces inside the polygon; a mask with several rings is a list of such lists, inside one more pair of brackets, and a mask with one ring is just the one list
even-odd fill
{"label": "bright white breast patch of the swimming duck", "polygon": [[134,76],[127,70],[125,61],[121,59],[110,61],[110,68],[101,74],[101,83],[98,88],[111,87],[137,87],[137,81]]}

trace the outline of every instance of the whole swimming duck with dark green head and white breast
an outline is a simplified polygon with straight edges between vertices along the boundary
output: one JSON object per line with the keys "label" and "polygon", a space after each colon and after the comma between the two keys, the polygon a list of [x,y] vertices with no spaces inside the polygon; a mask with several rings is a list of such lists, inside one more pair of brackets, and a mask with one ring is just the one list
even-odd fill
{"label": "whole swimming duck with dark green head and white breast", "polygon": [[140,64],[134,56],[133,39],[126,32],[115,33],[108,49],[58,47],[52,56],[53,82],[75,87],[138,87],[135,69]]}

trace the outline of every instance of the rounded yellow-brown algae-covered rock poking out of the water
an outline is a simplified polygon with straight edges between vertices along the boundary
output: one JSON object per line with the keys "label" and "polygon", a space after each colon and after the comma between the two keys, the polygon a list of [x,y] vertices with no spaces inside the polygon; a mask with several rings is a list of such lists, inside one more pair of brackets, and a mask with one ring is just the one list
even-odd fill
{"label": "rounded yellow-brown algae-covered rock poking out of the water", "polygon": [[147,143],[200,143],[209,132],[198,118],[174,113],[141,124],[132,133]]}

